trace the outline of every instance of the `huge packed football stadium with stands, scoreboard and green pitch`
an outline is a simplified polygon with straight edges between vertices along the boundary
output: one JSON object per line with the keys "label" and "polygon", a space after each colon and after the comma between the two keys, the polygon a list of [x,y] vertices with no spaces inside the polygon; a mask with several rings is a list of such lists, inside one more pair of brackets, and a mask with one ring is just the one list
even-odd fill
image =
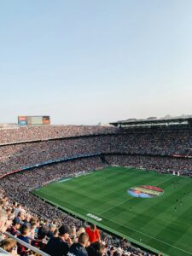
{"label": "huge packed football stadium with stands, scoreboard and green pitch", "polygon": [[[32,241],[44,229],[47,244],[61,225],[78,239],[80,229],[96,224],[99,245],[90,244],[89,255],[192,255],[191,137],[190,117],[108,126],[22,117],[1,128],[2,239],[20,234],[12,232],[18,218]],[[55,255],[21,235],[14,238],[19,255]]]}

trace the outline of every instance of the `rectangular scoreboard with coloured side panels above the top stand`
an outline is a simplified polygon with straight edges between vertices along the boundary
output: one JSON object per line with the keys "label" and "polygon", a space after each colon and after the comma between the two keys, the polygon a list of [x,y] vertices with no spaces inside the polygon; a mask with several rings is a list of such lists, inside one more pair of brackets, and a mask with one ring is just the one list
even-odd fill
{"label": "rectangular scoreboard with coloured side panels above the top stand", "polygon": [[49,125],[49,115],[18,116],[18,125]]}

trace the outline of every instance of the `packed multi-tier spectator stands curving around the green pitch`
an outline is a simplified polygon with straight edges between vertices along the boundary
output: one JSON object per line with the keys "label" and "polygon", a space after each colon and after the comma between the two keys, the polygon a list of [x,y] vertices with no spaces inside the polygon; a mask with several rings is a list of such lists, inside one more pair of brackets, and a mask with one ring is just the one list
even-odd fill
{"label": "packed multi-tier spectator stands curving around the green pitch", "polygon": [[[115,126],[120,125],[115,123]],[[132,125],[131,129],[63,125],[1,129],[0,231],[4,234],[7,229],[13,230],[13,220],[18,221],[18,212],[23,212],[20,213],[20,224],[25,222],[31,227],[32,241],[38,239],[38,230],[44,229],[48,235],[51,225],[57,229],[61,224],[76,227],[77,230],[85,227],[84,221],[67,215],[30,193],[32,189],[63,177],[73,177],[79,172],[116,165],[158,172],[177,171],[181,175],[192,176],[191,135],[190,127],[184,123],[183,128],[179,122],[177,128],[171,125],[165,130],[161,125],[155,129],[147,129],[146,126],[138,129]],[[2,235],[1,240],[4,241],[5,236]],[[56,230],[53,236],[57,236]],[[100,255],[116,255],[115,252],[119,255],[154,255],[103,231],[101,238],[105,247],[99,248]],[[113,246],[121,248],[113,250]],[[90,251],[95,247],[92,246]],[[28,251],[24,246],[19,253],[25,256]]]}

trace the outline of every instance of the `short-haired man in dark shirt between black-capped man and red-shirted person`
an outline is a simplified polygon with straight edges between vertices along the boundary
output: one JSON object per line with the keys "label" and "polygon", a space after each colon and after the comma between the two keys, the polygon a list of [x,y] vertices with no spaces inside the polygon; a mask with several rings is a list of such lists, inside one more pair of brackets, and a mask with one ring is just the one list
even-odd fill
{"label": "short-haired man in dark shirt between black-capped man and red-shirted person", "polygon": [[88,256],[87,250],[85,249],[88,241],[89,236],[86,233],[81,233],[78,238],[78,242],[73,243],[67,253],[67,256]]}

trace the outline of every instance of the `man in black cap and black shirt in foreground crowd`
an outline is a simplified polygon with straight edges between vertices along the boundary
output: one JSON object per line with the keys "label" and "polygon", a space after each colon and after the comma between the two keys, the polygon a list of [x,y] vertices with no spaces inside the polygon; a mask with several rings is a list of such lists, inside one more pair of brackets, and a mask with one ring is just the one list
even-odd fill
{"label": "man in black cap and black shirt in foreground crowd", "polygon": [[44,252],[51,256],[67,256],[69,247],[72,245],[69,237],[70,228],[63,224],[59,228],[59,236],[49,239],[47,245],[44,247]]}

